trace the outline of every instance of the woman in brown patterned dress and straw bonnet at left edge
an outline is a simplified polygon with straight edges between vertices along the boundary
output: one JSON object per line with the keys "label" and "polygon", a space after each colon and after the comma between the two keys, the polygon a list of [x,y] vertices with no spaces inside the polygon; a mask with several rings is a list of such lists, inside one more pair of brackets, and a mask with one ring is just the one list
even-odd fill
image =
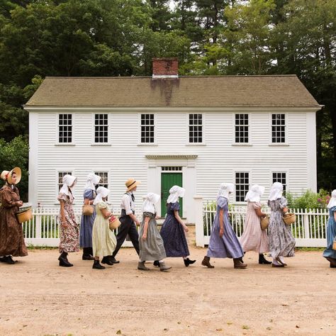
{"label": "woman in brown patterned dress and straw bonnet at left edge", "polygon": [[12,256],[28,255],[22,225],[16,217],[18,208],[23,205],[16,187],[21,180],[21,169],[16,167],[11,172],[4,170],[1,179],[6,184],[0,189],[0,262],[15,264]]}

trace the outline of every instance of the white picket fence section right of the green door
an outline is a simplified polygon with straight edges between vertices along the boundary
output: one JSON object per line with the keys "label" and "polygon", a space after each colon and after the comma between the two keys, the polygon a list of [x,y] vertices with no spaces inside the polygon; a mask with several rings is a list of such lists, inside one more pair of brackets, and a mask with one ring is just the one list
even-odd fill
{"label": "white picket fence section right of the green door", "polygon": [[[196,221],[196,245],[208,245],[213,219],[215,218],[215,203],[203,203],[202,218]],[[263,210],[269,213],[269,209]],[[296,222],[291,225],[297,247],[325,247],[326,225],[329,213],[327,209],[290,209],[296,214]],[[237,237],[242,235],[246,206],[230,206],[230,223]]]}

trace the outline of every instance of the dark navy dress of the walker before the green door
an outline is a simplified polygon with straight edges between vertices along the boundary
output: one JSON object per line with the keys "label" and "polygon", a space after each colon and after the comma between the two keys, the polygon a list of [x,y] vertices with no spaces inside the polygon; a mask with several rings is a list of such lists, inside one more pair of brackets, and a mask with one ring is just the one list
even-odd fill
{"label": "dark navy dress of the walker before the green door", "polygon": [[174,211],[179,211],[179,202],[169,203],[167,217],[162,224],[160,235],[167,257],[188,257],[189,248],[183,226],[177,221]]}

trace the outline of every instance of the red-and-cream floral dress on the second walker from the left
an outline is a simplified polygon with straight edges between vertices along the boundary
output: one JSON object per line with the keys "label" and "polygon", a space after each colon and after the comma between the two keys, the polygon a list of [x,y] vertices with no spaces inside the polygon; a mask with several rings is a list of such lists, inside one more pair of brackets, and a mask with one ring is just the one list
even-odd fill
{"label": "red-and-cream floral dress on the second walker from the left", "polygon": [[63,201],[65,203],[65,220],[67,222],[67,228],[63,228],[61,225],[61,212],[58,216],[58,224],[60,225],[60,246],[59,251],[62,252],[78,252],[79,251],[79,225],[76,222],[76,217],[74,215],[74,209],[72,208],[72,203],[74,203],[74,196],[69,193],[60,194],[57,197],[58,201]]}

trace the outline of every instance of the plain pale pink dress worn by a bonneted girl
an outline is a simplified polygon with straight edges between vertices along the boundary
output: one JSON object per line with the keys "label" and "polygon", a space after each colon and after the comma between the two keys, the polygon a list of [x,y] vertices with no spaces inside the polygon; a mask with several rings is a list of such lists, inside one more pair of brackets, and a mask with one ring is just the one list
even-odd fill
{"label": "plain pale pink dress worn by a bonneted girl", "polygon": [[269,252],[267,231],[260,228],[260,218],[255,212],[259,208],[262,208],[259,202],[247,202],[244,232],[240,237],[240,244],[244,252]]}

